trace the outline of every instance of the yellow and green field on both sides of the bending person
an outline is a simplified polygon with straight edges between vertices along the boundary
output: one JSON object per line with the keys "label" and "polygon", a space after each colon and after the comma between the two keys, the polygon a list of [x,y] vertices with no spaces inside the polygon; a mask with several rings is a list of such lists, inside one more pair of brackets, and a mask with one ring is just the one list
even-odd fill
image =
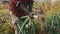
{"label": "yellow and green field on both sides of the bending person", "polygon": [[[33,11],[36,15],[39,15],[41,11],[42,17],[45,21],[41,25],[41,15],[38,19],[33,19],[35,24],[35,33],[41,34],[60,34],[60,2],[53,4],[49,2],[34,2]],[[14,30],[11,27],[11,18],[8,10],[8,4],[0,4],[0,34],[14,34]]]}

